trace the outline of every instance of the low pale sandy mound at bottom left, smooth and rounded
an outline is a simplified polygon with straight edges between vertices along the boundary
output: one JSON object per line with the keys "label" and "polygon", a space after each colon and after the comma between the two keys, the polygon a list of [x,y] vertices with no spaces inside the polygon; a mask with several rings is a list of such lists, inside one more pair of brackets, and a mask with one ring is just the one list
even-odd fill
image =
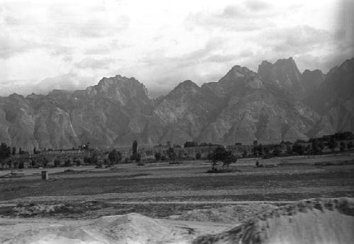
{"label": "low pale sandy mound at bottom left, smooth and rounded", "polygon": [[4,244],[179,243],[186,230],[141,214],[104,216],[80,228],[59,226],[26,231]]}

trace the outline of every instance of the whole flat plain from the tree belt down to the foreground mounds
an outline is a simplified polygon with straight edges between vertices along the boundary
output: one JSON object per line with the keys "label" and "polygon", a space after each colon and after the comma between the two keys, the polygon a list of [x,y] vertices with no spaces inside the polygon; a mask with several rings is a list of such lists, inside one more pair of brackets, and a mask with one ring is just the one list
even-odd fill
{"label": "whole flat plain from the tree belt down to the foreground mounds", "polygon": [[255,158],[242,159],[231,165],[237,169],[232,173],[206,173],[205,161],[48,168],[47,181],[40,180],[42,169],[13,170],[11,177],[0,171],[0,240],[11,226],[21,232],[31,221],[121,214],[227,228],[300,199],[354,197],[352,153],[258,160],[268,166],[256,168]]}

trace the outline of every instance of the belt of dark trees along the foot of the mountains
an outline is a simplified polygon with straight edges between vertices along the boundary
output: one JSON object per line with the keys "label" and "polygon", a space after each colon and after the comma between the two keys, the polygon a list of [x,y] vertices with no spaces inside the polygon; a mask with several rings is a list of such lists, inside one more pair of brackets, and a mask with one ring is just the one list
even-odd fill
{"label": "belt of dark trees along the foot of the mountains", "polygon": [[[135,141],[135,143],[137,143]],[[352,132],[338,132],[320,138],[302,140],[294,143],[281,141],[280,144],[258,144],[253,141],[251,145],[236,143],[234,145],[207,144],[186,141],[183,146],[166,145],[118,147],[112,150],[94,149],[90,144],[84,144],[72,149],[45,149],[26,152],[22,149],[1,144],[1,169],[11,168],[52,168],[79,165],[114,165],[116,163],[154,163],[156,161],[198,161],[208,160],[215,149],[223,147],[236,158],[270,158],[275,156],[315,155],[350,151],[353,149],[354,135]],[[114,151],[117,156],[110,157]],[[113,159],[112,159],[113,158]]]}

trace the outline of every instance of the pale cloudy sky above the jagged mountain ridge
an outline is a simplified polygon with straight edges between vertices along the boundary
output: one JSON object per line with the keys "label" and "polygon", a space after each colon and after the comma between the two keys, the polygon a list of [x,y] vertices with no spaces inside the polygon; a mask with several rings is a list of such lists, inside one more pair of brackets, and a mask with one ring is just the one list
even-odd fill
{"label": "pale cloudy sky above the jagged mountain ridge", "polygon": [[353,15],[354,0],[0,0],[0,95],[120,74],[157,96],[288,57],[326,73],[354,56]]}

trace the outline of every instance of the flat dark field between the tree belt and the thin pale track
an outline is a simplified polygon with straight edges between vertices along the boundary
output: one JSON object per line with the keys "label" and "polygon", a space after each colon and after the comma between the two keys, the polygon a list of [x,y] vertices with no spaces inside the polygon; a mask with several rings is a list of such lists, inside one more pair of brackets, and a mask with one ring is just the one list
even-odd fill
{"label": "flat dark field between the tree belt and the thin pale track", "polygon": [[353,158],[352,155],[338,155],[261,161],[280,163],[274,168],[254,168],[253,161],[246,160],[232,165],[241,172],[222,174],[207,174],[210,163],[193,161],[181,165],[117,165],[113,169],[80,167],[67,173],[63,168],[55,168],[49,170],[52,178],[49,181],[40,180],[40,170],[28,169],[23,170],[20,178],[0,180],[0,199],[10,202],[14,199],[16,202],[85,199],[277,201],[354,196],[353,164],[314,165],[317,161],[348,163]]}

